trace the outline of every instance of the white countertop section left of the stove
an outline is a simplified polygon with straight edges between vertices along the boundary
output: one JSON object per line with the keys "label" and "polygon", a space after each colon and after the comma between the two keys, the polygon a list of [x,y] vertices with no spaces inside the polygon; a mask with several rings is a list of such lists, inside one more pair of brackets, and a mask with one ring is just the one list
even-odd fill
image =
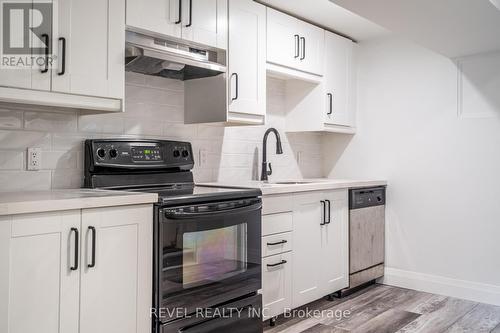
{"label": "white countertop section left of the stove", "polygon": [[158,201],[156,193],[104,191],[93,189],[23,191],[0,193],[0,216],[152,204]]}

